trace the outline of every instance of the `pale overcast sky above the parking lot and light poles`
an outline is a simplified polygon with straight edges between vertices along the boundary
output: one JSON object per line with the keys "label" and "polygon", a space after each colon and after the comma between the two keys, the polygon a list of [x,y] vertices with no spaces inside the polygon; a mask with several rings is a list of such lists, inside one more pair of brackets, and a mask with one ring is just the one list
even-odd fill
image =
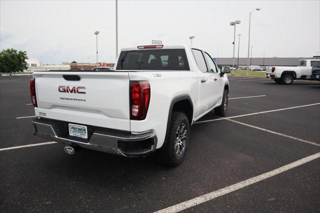
{"label": "pale overcast sky above the parking lot and light poles", "polygon": [[[190,43],[212,57],[232,57],[233,26],[240,20],[240,57],[247,56],[249,12],[252,57],[310,57],[320,51],[320,0],[285,1],[118,1],[121,47]],[[0,48],[27,51],[28,57],[55,64],[75,60],[115,61],[115,1],[0,0]],[[238,38],[236,36],[235,56]],[[319,52],[320,55],[320,52]],[[88,58],[89,57],[89,58]]]}

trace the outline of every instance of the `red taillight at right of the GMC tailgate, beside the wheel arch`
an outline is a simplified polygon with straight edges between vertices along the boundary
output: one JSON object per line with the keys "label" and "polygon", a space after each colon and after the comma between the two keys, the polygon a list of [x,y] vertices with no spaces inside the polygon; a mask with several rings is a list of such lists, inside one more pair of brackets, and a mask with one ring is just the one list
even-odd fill
{"label": "red taillight at right of the GMC tailgate, beside the wheel arch", "polygon": [[130,81],[130,119],[143,120],[150,101],[148,81]]}

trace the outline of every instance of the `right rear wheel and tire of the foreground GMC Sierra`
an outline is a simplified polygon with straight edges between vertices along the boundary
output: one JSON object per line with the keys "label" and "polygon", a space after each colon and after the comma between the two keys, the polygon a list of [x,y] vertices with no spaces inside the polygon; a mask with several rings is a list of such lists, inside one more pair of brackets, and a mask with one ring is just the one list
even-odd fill
{"label": "right rear wheel and tire of the foreground GMC Sierra", "polygon": [[177,166],[185,157],[189,140],[189,121],[182,112],[173,111],[167,139],[155,154],[157,160],[165,165]]}

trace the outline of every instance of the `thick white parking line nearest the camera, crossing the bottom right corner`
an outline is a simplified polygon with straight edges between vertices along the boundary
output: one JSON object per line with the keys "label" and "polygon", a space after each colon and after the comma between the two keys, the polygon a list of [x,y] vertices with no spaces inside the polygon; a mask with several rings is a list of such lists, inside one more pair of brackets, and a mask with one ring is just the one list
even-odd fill
{"label": "thick white parking line nearest the camera, crossing the bottom right corner", "polygon": [[284,171],[287,171],[289,169],[292,169],[292,168],[294,168],[296,166],[302,165],[304,163],[307,163],[307,162],[309,162],[311,160],[314,160],[314,159],[317,159],[319,157],[320,157],[320,152],[312,154],[312,155],[309,155],[309,156],[304,157],[302,159],[296,160],[296,161],[291,162],[291,163],[289,163],[287,165],[284,165],[284,166],[281,166],[279,168],[273,169],[271,171],[268,171],[266,173],[260,174],[258,176],[251,177],[249,179],[240,181],[240,182],[235,183],[233,185],[226,186],[226,187],[218,189],[216,191],[212,191],[212,192],[209,192],[207,194],[203,194],[201,196],[195,197],[193,199],[190,199],[190,200],[187,200],[187,201],[184,201],[184,202],[180,202],[180,203],[178,203],[176,205],[172,205],[170,207],[158,210],[156,212],[178,212],[178,211],[181,211],[183,209],[198,205],[200,203],[209,201],[211,199],[214,199],[216,197],[219,197],[219,196],[222,196],[224,194],[230,193],[230,192],[235,191],[237,189],[240,189],[240,188],[246,187],[248,185],[251,185],[253,183],[259,182],[261,180],[264,180],[264,179],[269,178],[271,176],[274,176],[276,174],[282,173]]}

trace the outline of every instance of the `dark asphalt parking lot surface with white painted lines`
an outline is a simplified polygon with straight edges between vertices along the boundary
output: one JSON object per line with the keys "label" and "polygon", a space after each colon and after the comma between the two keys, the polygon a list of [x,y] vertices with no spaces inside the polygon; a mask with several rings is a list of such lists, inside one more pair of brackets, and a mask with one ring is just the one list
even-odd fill
{"label": "dark asphalt parking lot surface with white painted lines", "polygon": [[172,168],[26,146],[48,142],[32,135],[29,78],[0,77],[1,212],[320,211],[319,81],[230,76],[227,119],[210,112],[194,123]]}

